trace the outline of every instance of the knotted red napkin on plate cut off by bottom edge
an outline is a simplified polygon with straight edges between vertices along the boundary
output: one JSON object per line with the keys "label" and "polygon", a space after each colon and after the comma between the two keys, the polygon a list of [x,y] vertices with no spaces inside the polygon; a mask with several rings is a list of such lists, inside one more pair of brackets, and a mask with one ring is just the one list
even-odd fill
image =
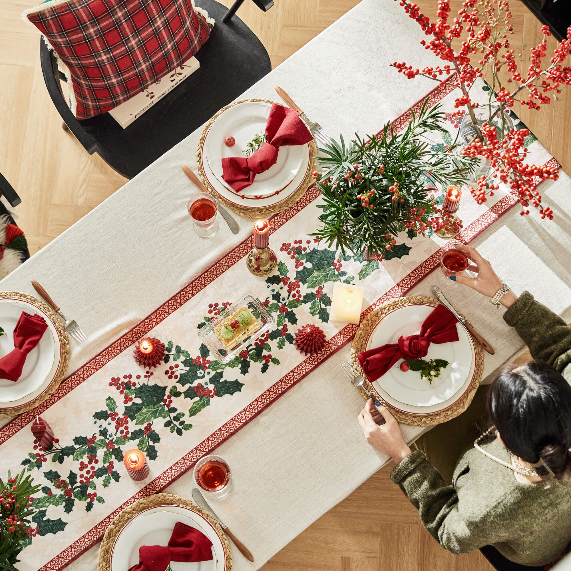
{"label": "knotted red napkin on plate cut off by bottom edge", "polygon": [[164,571],[171,561],[193,563],[212,559],[212,542],[198,529],[177,521],[168,545],[142,545],[139,563],[128,571]]}

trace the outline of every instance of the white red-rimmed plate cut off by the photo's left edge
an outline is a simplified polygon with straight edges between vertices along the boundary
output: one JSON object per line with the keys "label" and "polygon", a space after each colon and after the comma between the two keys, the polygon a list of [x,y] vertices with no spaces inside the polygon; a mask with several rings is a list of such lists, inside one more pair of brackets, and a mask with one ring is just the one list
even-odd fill
{"label": "white red-rimmed plate cut off by the photo's left edge", "polygon": [[0,326],[6,333],[0,336],[0,357],[14,349],[14,327],[23,311],[42,316],[47,329],[28,353],[19,380],[0,379],[0,409],[21,407],[41,396],[54,380],[62,358],[61,339],[50,317],[29,301],[12,297],[0,299]]}

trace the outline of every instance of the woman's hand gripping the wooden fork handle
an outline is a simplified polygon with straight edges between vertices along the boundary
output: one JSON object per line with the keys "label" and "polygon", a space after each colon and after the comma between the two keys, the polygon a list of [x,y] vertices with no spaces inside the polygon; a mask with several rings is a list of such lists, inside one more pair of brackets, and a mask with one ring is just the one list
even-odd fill
{"label": "woman's hand gripping the wooden fork handle", "polygon": [[[384,424],[379,425],[375,422],[377,414],[383,416]],[[396,464],[411,454],[411,449],[404,441],[399,423],[387,408],[382,405],[375,407],[373,399],[369,399],[357,418],[365,440],[375,450],[391,456]]]}

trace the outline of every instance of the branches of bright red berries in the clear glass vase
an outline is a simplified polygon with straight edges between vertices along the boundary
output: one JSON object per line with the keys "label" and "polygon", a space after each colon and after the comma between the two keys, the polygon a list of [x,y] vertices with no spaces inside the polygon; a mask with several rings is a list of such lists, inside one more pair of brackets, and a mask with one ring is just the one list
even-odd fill
{"label": "branches of bright red berries in the clear glass vase", "polygon": [[[455,106],[459,108],[456,114],[467,112],[475,133],[462,152],[481,156],[490,162],[489,175],[482,175],[476,188],[471,187],[472,196],[482,204],[499,188],[498,182],[506,183],[518,196],[522,215],[529,214],[528,207],[532,204],[540,209],[541,218],[553,219],[552,210],[542,206],[534,179],[557,180],[558,170],[545,165],[526,164],[528,150],[523,142],[529,131],[506,129],[505,117],[508,108],[516,103],[537,110],[550,103],[550,93],[561,93],[561,85],[571,85],[571,67],[563,65],[571,50],[571,27],[567,30],[567,38],[554,49],[549,64],[546,64],[547,38],[551,34],[549,26],[543,26],[544,37],[538,46],[530,48],[530,65],[527,70],[522,70],[521,54],[516,54],[509,45],[508,35],[513,34],[512,14],[505,0],[465,0],[452,21],[450,0],[438,0],[435,22],[431,22],[409,0],[400,0],[400,5],[427,35],[428,39],[422,39],[420,43],[445,64],[415,69],[406,62],[394,62],[393,67],[409,79],[421,75],[441,82],[441,85],[451,73],[456,73],[456,86],[461,90],[456,99]],[[471,65],[471,57],[480,58],[475,67]],[[508,75],[506,83],[509,86],[502,85],[502,69]],[[470,90],[477,78],[488,70],[492,77],[491,89],[484,114],[486,119],[482,123],[478,122],[475,110],[479,105],[471,98]],[[498,132],[498,127],[501,132]]]}

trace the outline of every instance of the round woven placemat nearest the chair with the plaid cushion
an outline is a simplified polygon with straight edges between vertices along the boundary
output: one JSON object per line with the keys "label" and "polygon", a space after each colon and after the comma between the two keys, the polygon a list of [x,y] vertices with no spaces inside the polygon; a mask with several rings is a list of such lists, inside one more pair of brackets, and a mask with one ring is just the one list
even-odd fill
{"label": "round woven placemat nearest the chair with the plaid cushion", "polygon": [[307,191],[307,189],[311,186],[311,184],[313,183],[312,175],[313,171],[315,170],[315,155],[317,154],[317,150],[315,142],[311,141],[309,143],[309,168],[307,170],[307,175],[305,175],[305,178],[303,179],[303,182],[301,183],[301,186],[297,189],[297,191],[294,192],[291,196],[289,196],[286,200],[283,200],[278,204],[272,204],[272,206],[264,206],[260,208],[245,208],[242,206],[237,206],[236,204],[231,203],[229,200],[226,200],[223,196],[220,196],[218,192],[216,192],[214,188],[210,186],[210,183],[208,183],[208,180],[204,175],[202,161],[200,160],[200,150],[202,149],[202,142],[208,132],[208,129],[210,129],[210,126],[212,125],[212,123],[214,123],[215,119],[220,114],[222,114],[227,109],[230,109],[230,107],[234,107],[235,105],[244,103],[246,101],[261,101],[263,103],[275,103],[275,101],[271,101],[270,99],[240,99],[239,101],[230,103],[230,105],[227,105],[226,107],[220,109],[220,111],[218,111],[218,113],[216,113],[216,115],[214,115],[214,117],[212,117],[212,119],[208,121],[206,127],[204,127],[204,130],[202,131],[202,135],[200,135],[198,148],[196,149],[196,165],[198,166],[198,174],[200,175],[200,178],[202,179],[204,186],[206,186],[206,188],[208,188],[208,191],[212,195],[216,196],[216,200],[219,200],[222,204],[224,204],[224,206],[230,208],[231,210],[234,210],[236,214],[239,214],[240,216],[245,216],[246,218],[256,218],[256,219],[269,218],[274,214],[278,214],[278,212],[286,210],[286,208],[289,208],[292,204],[295,204],[297,200],[299,200],[301,196],[303,196]]}

